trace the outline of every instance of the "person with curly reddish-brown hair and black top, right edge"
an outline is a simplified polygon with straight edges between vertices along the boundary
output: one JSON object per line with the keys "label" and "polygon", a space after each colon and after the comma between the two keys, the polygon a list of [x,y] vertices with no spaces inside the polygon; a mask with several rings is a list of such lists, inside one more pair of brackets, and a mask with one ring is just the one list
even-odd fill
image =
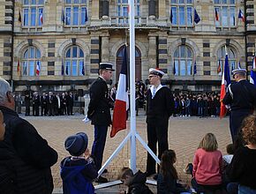
{"label": "person with curly reddish-brown hair and black top, right edge", "polygon": [[[245,146],[237,149],[227,168],[230,181],[237,182],[238,193],[256,193],[256,116],[247,116],[243,123]],[[228,185],[228,188],[230,185]]]}

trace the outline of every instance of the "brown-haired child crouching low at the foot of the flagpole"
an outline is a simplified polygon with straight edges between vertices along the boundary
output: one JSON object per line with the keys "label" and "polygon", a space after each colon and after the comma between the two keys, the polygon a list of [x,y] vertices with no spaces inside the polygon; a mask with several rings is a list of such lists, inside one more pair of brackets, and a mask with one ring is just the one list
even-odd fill
{"label": "brown-haired child crouching low at the foot of the flagpole", "polygon": [[153,194],[146,185],[147,175],[140,170],[133,175],[132,169],[122,168],[118,177],[128,187],[127,194]]}

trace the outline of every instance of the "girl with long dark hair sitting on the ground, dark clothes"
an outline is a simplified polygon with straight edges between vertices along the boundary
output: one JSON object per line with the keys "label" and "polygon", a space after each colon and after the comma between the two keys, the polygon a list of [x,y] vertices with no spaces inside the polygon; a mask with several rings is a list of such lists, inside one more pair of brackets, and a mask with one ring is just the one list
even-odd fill
{"label": "girl with long dark hair sitting on the ground, dark clothes", "polygon": [[166,150],[162,153],[160,163],[160,171],[157,177],[157,193],[158,194],[179,194],[188,192],[188,185],[177,183],[177,170],[173,166],[176,162],[176,153],[173,150]]}

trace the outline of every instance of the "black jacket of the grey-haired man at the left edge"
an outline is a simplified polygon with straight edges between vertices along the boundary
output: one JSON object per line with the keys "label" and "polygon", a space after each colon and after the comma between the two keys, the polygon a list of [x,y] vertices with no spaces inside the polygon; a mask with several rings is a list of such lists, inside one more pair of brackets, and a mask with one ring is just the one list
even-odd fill
{"label": "black jacket of the grey-haired man at the left edge", "polygon": [[0,142],[0,193],[51,193],[50,167],[56,163],[56,151],[16,112],[1,106],[0,109],[6,124],[4,141]]}

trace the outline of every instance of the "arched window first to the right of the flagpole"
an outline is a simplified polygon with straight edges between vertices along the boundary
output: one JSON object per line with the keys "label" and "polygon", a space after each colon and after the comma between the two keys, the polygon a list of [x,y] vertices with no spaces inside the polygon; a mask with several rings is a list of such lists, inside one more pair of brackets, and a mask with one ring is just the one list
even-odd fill
{"label": "arched window first to the right of the flagpole", "polygon": [[174,52],[174,65],[176,76],[192,75],[192,49],[181,45]]}

